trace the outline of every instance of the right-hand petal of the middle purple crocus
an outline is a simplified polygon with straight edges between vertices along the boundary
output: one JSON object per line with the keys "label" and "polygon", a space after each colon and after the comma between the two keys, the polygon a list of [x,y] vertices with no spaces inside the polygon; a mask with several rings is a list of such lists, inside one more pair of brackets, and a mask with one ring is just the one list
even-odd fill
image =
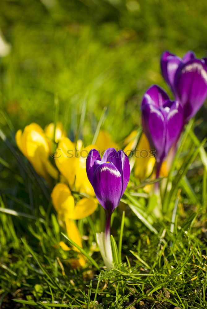
{"label": "right-hand petal of the middle purple crocus", "polygon": [[170,103],[170,111],[166,117],[165,157],[183,129],[183,108],[178,101]]}

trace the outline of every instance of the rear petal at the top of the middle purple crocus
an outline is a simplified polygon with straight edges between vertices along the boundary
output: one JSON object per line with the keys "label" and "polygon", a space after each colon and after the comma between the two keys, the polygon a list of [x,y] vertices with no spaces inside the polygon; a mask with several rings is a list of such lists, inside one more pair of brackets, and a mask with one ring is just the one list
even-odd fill
{"label": "rear petal at the top of the middle purple crocus", "polygon": [[154,106],[161,107],[166,100],[169,100],[166,92],[157,85],[151,86],[144,94],[141,107],[144,104],[152,104]]}

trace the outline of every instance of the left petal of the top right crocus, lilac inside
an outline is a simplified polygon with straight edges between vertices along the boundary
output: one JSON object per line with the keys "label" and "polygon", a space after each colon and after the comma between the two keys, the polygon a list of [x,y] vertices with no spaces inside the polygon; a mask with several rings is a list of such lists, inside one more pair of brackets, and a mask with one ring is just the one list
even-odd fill
{"label": "left petal of the top right crocus, lilac inside", "polygon": [[181,58],[169,53],[168,51],[164,52],[161,56],[160,64],[162,76],[172,91],[174,89],[174,77],[176,70],[182,62],[183,61]]}

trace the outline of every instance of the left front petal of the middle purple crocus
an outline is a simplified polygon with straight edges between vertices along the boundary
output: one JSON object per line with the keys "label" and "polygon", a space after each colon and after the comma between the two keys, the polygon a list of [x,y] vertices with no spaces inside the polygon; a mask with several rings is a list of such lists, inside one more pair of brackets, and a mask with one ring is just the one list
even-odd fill
{"label": "left front petal of the middle purple crocus", "polygon": [[142,106],[142,126],[150,146],[156,150],[156,160],[162,160],[165,150],[166,126],[162,112],[152,104]]}

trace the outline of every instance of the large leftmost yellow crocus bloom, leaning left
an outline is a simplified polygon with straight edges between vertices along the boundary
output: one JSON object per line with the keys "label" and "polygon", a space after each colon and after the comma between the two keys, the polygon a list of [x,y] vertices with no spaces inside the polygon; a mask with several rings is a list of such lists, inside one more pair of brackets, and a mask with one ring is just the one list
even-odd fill
{"label": "large leftmost yellow crocus bloom, leaning left", "polygon": [[58,172],[50,163],[50,147],[48,139],[43,129],[37,123],[31,123],[24,128],[24,131],[18,130],[15,140],[19,150],[32,164],[34,170],[45,180],[49,180],[49,175],[57,178]]}

